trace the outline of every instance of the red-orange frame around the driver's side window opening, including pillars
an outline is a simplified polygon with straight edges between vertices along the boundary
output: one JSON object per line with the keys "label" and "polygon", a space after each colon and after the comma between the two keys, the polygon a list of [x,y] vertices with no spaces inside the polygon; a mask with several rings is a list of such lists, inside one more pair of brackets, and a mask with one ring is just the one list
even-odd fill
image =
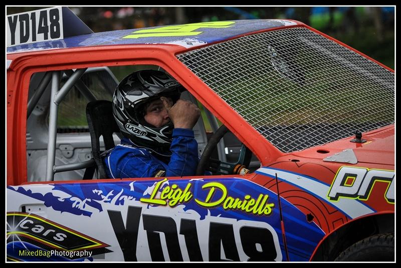
{"label": "red-orange frame around the driver's side window opening, including pillars", "polygon": [[178,61],[175,55],[183,50],[183,47],[177,45],[119,45],[20,53],[9,57],[13,61],[7,74],[7,185],[19,185],[27,181],[26,114],[29,81],[34,73],[50,70],[142,64],[160,66],[226,124],[255,153],[262,165],[283,156],[282,152]]}

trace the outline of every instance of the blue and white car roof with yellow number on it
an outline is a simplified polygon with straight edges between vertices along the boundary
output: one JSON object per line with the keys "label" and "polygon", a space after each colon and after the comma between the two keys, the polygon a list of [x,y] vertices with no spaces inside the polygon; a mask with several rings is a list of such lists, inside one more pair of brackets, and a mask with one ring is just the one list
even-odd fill
{"label": "blue and white car roof with yellow number on it", "polygon": [[132,44],[172,44],[185,48],[194,48],[248,33],[292,25],[303,24],[292,20],[233,20],[117,30],[11,46],[7,48],[7,53]]}

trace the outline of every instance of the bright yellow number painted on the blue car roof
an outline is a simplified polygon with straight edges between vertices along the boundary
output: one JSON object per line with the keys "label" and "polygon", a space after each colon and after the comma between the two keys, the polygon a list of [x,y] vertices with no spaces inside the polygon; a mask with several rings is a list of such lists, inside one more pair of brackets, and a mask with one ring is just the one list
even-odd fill
{"label": "bright yellow number painted on the blue car roof", "polygon": [[133,35],[124,36],[123,38],[196,36],[203,33],[194,32],[200,28],[228,28],[234,23],[235,22],[207,22],[166,26],[156,29],[139,30],[133,32]]}

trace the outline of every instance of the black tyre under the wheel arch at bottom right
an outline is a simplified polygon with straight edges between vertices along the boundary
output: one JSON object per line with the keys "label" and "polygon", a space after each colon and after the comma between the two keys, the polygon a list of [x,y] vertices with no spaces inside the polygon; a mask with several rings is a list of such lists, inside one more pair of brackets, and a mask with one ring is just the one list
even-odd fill
{"label": "black tyre under the wheel arch at bottom right", "polygon": [[342,251],[335,261],[394,261],[394,234],[366,237]]}

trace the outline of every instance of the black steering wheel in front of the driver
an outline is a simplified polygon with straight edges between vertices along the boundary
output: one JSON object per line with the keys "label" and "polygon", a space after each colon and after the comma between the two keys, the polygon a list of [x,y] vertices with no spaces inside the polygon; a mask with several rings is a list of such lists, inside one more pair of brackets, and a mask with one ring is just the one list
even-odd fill
{"label": "black steering wheel in front of the driver", "polygon": [[218,159],[210,158],[217,144],[228,131],[229,129],[225,125],[222,125],[212,135],[205,147],[204,152],[202,153],[202,156],[200,157],[196,168],[196,175],[205,175],[205,170],[212,171],[213,173],[219,175],[239,174],[239,167],[245,166],[248,168],[249,163],[251,162],[252,151],[248,149],[245,144],[242,144],[241,146],[240,156],[236,163],[228,163]]}

